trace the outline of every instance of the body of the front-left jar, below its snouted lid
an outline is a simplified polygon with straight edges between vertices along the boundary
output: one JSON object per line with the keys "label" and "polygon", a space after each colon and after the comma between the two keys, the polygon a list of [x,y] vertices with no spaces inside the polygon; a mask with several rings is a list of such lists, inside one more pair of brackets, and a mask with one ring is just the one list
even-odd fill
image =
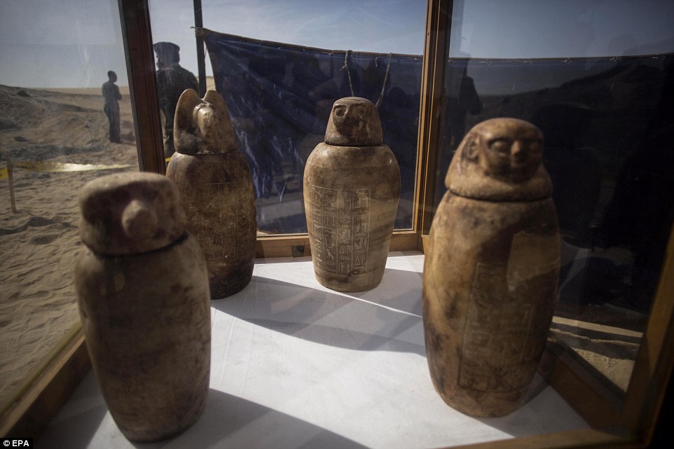
{"label": "body of the front-left jar, below its snouted lid", "polygon": [[75,287],[92,366],[123,434],[157,441],[193,424],[211,354],[207,270],[194,237],[144,254],[87,249]]}

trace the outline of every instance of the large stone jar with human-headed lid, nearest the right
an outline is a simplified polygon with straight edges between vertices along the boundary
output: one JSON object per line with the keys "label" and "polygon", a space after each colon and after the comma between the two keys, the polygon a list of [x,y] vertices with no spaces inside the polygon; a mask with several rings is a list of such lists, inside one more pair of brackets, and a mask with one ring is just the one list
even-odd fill
{"label": "large stone jar with human-headed lid, nearest the right", "polygon": [[423,275],[433,384],[476,417],[511,413],[535,375],[552,319],[560,242],[541,132],[476,125],[449,167]]}

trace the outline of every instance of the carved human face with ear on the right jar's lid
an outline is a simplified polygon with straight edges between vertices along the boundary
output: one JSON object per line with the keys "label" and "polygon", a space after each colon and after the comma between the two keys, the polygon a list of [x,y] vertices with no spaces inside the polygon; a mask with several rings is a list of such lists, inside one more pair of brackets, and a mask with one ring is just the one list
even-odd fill
{"label": "carved human face with ear on the right jar's lid", "polygon": [[521,183],[536,174],[542,160],[543,136],[537,127],[515,119],[487,120],[473,128],[466,156],[483,174]]}

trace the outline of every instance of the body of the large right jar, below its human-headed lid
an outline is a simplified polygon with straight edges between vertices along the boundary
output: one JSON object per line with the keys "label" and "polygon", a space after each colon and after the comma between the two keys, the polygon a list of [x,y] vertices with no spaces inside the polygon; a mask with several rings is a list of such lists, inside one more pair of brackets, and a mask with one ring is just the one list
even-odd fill
{"label": "body of the large right jar, below its human-headed lid", "polygon": [[476,417],[520,406],[552,319],[559,248],[551,198],[446,193],[425,255],[423,320],[431,378],[450,406]]}

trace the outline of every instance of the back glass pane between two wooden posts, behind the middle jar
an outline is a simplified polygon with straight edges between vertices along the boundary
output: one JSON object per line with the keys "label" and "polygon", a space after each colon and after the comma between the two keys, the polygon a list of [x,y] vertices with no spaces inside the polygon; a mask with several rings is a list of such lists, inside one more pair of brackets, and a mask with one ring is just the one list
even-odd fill
{"label": "back glass pane between two wooden posts, behind the middle jar", "polygon": [[[192,2],[176,8],[151,1],[153,41],[177,44],[196,74]],[[304,165],[333,102],[348,96],[378,106],[401,167],[395,227],[412,228],[425,2],[219,1],[203,5],[203,21],[207,85],[251,168],[259,233],[306,233]]]}

